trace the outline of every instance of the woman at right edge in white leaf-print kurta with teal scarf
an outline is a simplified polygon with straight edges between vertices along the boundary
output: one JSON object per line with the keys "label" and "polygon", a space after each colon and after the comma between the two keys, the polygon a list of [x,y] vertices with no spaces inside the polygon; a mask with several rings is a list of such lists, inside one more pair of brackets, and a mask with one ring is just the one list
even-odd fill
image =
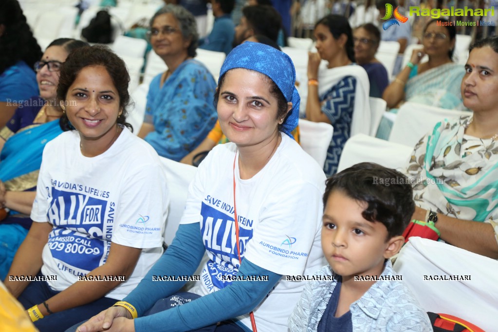
{"label": "woman at right edge in white leaf-print kurta with teal scarf", "polygon": [[474,114],[439,122],[415,145],[406,170],[415,179],[413,219],[433,211],[441,239],[496,259],[498,37],[474,44],[465,68],[462,97]]}

